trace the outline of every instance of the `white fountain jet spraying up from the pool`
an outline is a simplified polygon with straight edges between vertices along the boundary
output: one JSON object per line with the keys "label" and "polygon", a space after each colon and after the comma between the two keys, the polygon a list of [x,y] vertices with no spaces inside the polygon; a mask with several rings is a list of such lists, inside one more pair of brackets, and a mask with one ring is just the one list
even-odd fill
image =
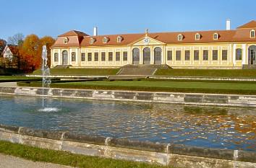
{"label": "white fountain jet spraying up from the pool", "polygon": [[47,90],[46,96],[48,94],[48,92],[50,91],[51,87],[51,79],[50,79],[50,68],[47,65],[47,48],[46,45],[43,45],[43,51],[42,51],[42,90],[43,90],[43,108],[40,109],[39,111],[41,112],[52,112],[52,111],[58,111],[58,109],[56,107],[45,107],[45,89]]}

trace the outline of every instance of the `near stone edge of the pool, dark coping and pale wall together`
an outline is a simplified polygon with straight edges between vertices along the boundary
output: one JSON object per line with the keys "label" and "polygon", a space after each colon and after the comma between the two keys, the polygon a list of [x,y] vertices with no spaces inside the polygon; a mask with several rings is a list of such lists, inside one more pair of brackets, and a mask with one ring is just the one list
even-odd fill
{"label": "near stone edge of the pool, dark coping and pale wall together", "polygon": [[132,141],[0,124],[0,140],[74,154],[101,156],[172,167],[256,167],[256,152],[210,149],[172,143]]}

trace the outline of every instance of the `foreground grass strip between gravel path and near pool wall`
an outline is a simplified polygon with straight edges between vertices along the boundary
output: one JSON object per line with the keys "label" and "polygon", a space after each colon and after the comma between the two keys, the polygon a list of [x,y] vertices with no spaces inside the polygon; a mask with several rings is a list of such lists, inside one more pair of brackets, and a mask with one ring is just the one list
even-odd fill
{"label": "foreground grass strip between gravel path and near pool wall", "polygon": [[[50,162],[71,167],[94,167],[94,168],[126,168],[126,167],[148,167],[163,168],[155,164],[145,164],[140,162],[129,162],[115,159],[104,159],[97,156],[84,156],[72,154],[66,151],[54,151],[25,146],[7,141],[0,141],[0,153],[17,156],[34,162]],[[10,163],[11,164],[11,163]],[[166,167],[167,168],[167,167]],[[171,168],[171,167],[169,167]]]}

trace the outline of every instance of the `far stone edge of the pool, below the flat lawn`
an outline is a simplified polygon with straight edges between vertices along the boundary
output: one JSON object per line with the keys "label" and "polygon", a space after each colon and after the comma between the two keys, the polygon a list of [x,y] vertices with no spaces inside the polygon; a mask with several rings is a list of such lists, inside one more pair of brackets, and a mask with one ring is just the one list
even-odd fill
{"label": "far stone edge of the pool, below the flat lawn", "polygon": [[[42,96],[40,87],[0,87],[0,94]],[[183,105],[218,105],[256,107],[256,95],[202,94],[180,92],[136,92],[93,89],[44,89],[44,97],[79,98],[88,100],[116,100],[132,102],[156,102]]]}

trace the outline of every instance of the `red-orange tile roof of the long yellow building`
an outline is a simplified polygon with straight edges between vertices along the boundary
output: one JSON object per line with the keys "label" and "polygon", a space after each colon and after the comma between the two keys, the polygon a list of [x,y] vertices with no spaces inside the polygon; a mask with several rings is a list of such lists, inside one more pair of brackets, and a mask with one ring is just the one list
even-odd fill
{"label": "red-orange tile roof of the long yellow building", "polygon": [[[210,30],[210,31],[197,31],[197,32],[155,32],[148,33],[148,36],[161,41],[166,44],[179,44],[179,43],[234,43],[234,42],[256,42],[255,38],[250,38],[249,29],[244,29],[244,27],[253,27],[256,24],[255,21],[249,22],[245,25],[242,25],[242,28],[236,30]],[[76,34],[77,43],[70,43],[67,45],[63,44],[62,40],[56,40],[56,43],[52,46],[52,48],[57,47],[90,47],[90,46],[108,46],[108,45],[129,45],[135,43],[137,40],[140,40],[142,37],[145,37],[145,33],[140,34],[123,34],[123,35],[98,35],[98,36],[89,36],[85,33],[74,32],[74,30],[70,32],[66,32],[63,35],[59,35],[60,37],[68,37]],[[200,40],[195,40],[195,35],[200,34]],[[218,33],[218,40],[213,40],[213,34]],[[83,35],[85,34],[85,35]],[[178,35],[182,34],[184,36],[183,40],[178,40]],[[123,40],[121,43],[117,43],[117,37],[121,36]],[[95,38],[95,42],[90,44],[90,38]],[[103,38],[108,37],[108,43],[103,43]]]}

